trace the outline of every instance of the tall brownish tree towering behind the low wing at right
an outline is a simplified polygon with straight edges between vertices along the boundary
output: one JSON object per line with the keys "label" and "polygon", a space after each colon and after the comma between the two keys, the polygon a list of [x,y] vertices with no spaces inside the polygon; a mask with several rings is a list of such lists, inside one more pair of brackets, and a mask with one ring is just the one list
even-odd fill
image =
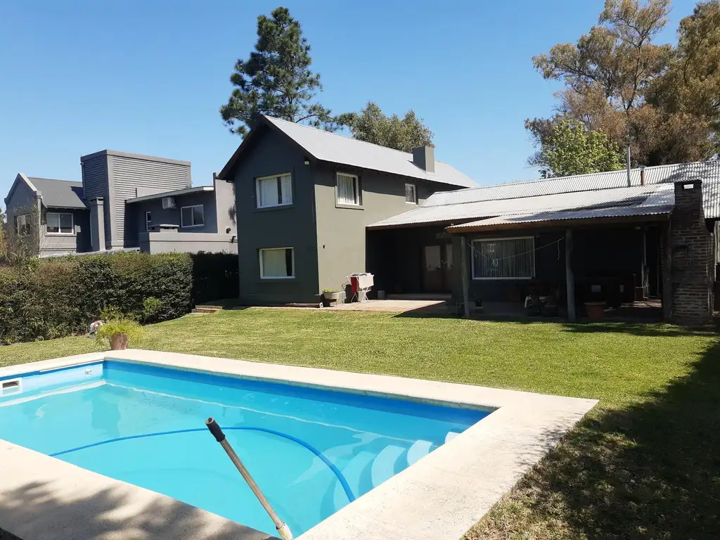
{"label": "tall brownish tree towering behind the low wing at right", "polygon": [[[706,4],[717,4],[711,0]],[[576,44],[554,45],[549,53],[533,58],[547,79],[562,80],[556,94],[557,113],[549,118],[526,120],[539,152],[528,160],[538,164],[544,144],[562,119],[570,118],[586,130],[603,132],[620,148],[631,145],[635,165],[696,161],[707,156],[711,122],[698,107],[670,106],[678,93],[678,80],[670,73],[680,66],[680,45],[654,45],[653,38],[667,24],[670,0],[606,0],[598,24]],[[696,9],[696,12],[698,9]],[[686,27],[690,27],[685,23]],[[711,24],[707,22],[708,32]],[[687,33],[687,32],[686,32]],[[689,50],[689,48],[688,48]],[[702,63],[699,71],[712,71]],[[697,95],[688,90],[687,95]],[[706,100],[707,102],[707,100]]]}

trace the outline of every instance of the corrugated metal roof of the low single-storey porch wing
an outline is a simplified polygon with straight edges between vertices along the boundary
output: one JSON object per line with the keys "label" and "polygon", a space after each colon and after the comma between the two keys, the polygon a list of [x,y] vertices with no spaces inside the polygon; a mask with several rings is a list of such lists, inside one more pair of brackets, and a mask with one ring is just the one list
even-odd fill
{"label": "corrugated metal roof of the low single-storey porch wing", "polygon": [[[698,178],[703,181],[705,217],[720,219],[720,161],[704,161],[647,167],[644,186],[640,185],[640,169],[633,169],[631,187],[627,186],[627,171],[611,171],[436,192],[420,207],[373,223],[369,228],[627,207],[629,201],[636,204],[639,197],[644,199],[652,195],[658,184],[672,186],[676,181]],[[670,204],[675,204],[674,195]]]}

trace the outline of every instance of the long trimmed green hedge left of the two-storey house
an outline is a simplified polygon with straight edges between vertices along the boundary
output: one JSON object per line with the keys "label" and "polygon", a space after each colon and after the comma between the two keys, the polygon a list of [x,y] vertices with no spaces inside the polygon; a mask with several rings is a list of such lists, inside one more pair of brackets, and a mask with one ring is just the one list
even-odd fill
{"label": "long trimmed green hedge left of the two-storey house", "polygon": [[195,304],[238,296],[238,257],[228,253],[113,253],[0,268],[0,343],[85,333],[105,307],[143,320],[143,302],[162,302],[154,320]]}

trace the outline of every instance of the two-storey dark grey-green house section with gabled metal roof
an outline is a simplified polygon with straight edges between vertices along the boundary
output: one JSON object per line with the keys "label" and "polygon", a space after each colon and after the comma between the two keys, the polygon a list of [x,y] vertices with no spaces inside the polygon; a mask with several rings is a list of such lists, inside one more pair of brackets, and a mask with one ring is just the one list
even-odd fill
{"label": "two-storey dark grey-green house section with gabled metal roof", "polygon": [[[247,231],[238,253],[248,304],[317,303],[382,255],[369,251],[367,225],[476,185],[431,147],[405,153],[270,117],[218,177],[235,183],[238,229]],[[408,256],[419,275],[419,254]]]}

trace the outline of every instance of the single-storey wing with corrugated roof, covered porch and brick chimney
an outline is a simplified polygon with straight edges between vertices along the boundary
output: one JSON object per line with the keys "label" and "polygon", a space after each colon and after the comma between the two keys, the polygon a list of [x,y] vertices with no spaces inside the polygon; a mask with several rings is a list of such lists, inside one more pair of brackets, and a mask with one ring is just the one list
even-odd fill
{"label": "single-storey wing with corrugated roof, covered porch and brick chimney", "polygon": [[425,239],[426,260],[453,253],[445,275],[426,267],[426,284],[486,312],[531,293],[571,315],[583,302],[662,296],[667,320],[704,323],[718,220],[720,161],[708,161],[634,169],[629,182],[612,171],[438,193],[367,230],[384,253],[374,272],[393,276],[403,246]]}

